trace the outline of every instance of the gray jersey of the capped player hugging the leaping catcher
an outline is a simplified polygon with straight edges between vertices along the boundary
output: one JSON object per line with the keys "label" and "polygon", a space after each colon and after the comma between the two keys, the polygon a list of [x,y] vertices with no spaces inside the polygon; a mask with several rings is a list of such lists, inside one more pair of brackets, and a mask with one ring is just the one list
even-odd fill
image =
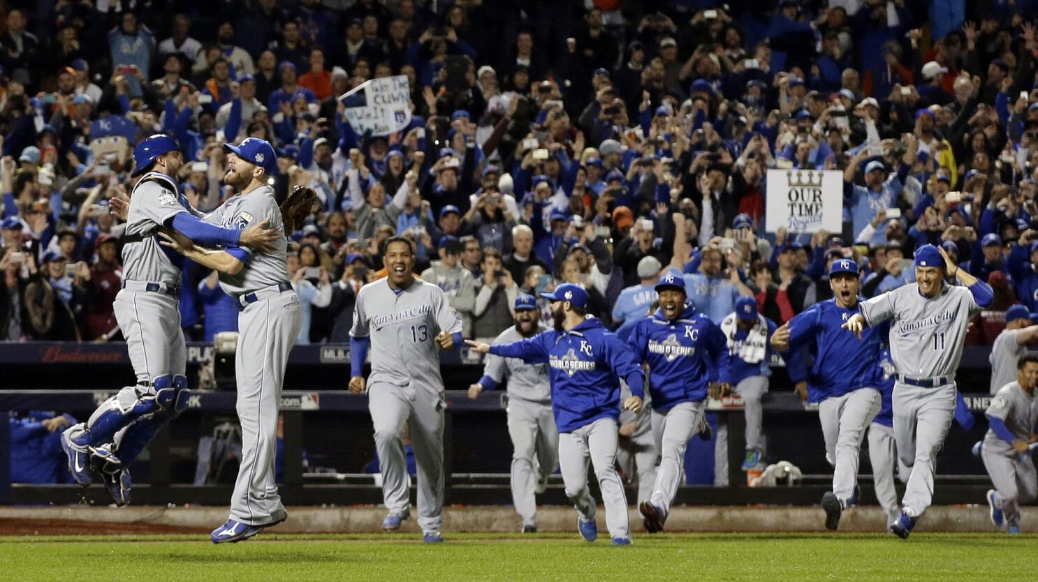
{"label": "gray jersey of the capped player hugging the leaping catcher", "polygon": [[[206,216],[206,221],[224,228],[245,230],[250,224],[270,221],[270,226],[284,232],[281,211],[274,201],[274,190],[262,186],[248,194],[238,194],[220,204],[220,207]],[[256,253],[248,247],[240,247],[249,253],[248,265],[237,274],[220,273],[220,286],[231,296],[251,293],[289,280],[286,267],[288,241],[278,237],[274,250]]]}

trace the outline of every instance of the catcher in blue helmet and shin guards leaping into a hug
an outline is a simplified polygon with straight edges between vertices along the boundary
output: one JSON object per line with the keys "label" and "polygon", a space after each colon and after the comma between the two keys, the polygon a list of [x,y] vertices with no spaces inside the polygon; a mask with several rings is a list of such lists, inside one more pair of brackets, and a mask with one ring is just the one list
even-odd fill
{"label": "catcher in blue helmet and shin guards leaping into a hug", "polygon": [[160,134],[142,140],[134,147],[134,162],[131,175],[140,179],[129,204],[113,198],[112,206],[127,221],[115,318],[137,383],[105,400],[86,422],[70,426],[61,438],[76,482],[90,484],[91,469],[97,470],[116,505],[130,502],[131,464],[188,401],[177,306],[182,259],[163,252],[157,233],[166,229],[201,244],[255,247],[276,238],[266,224],[241,230],[199,220],[173,178],[183,163],[173,138]]}

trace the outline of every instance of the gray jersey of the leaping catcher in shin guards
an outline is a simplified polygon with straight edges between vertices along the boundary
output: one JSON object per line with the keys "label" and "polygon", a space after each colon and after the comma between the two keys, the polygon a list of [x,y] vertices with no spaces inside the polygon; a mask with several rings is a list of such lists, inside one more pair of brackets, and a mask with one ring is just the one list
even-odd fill
{"label": "gray jersey of the leaping catcher in shin guards", "polygon": [[186,213],[176,184],[159,172],[147,172],[130,195],[126,237],[122,247],[122,278],[128,281],[181,284],[181,269],[170,261],[156,238],[159,227],[180,213]]}

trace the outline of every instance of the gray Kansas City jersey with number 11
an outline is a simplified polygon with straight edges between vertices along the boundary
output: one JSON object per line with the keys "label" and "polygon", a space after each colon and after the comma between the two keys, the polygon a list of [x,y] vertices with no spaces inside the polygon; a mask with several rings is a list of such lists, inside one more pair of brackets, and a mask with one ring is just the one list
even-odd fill
{"label": "gray Kansas City jersey with number 11", "polygon": [[907,284],[862,304],[870,326],[891,322],[891,359],[911,378],[954,376],[962,358],[969,320],[981,311],[966,287],[945,287],[933,299]]}

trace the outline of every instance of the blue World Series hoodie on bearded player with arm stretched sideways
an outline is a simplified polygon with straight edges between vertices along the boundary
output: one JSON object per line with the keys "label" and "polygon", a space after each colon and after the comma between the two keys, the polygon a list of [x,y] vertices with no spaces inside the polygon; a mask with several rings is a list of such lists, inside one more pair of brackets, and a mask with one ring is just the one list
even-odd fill
{"label": "blue World Series hoodie on bearded player with arm stretched sideways", "polygon": [[645,376],[630,350],[589,317],[570,331],[549,330],[528,339],[498,343],[490,353],[522,358],[551,367],[551,409],[559,433],[570,433],[601,418],[620,418],[620,378],[631,394],[645,395]]}

